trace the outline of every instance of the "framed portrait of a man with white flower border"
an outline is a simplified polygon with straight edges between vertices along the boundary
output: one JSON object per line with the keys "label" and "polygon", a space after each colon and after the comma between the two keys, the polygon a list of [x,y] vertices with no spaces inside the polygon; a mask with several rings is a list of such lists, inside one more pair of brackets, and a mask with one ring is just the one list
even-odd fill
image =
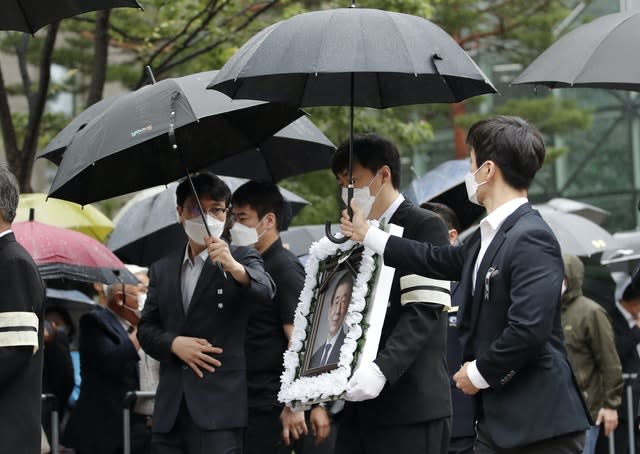
{"label": "framed portrait of a man with white flower border", "polygon": [[[377,227],[377,221],[370,221]],[[385,230],[401,235],[402,228]],[[278,399],[294,409],[339,399],[363,361],[375,359],[394,269],[353,241],[313,243]]]}

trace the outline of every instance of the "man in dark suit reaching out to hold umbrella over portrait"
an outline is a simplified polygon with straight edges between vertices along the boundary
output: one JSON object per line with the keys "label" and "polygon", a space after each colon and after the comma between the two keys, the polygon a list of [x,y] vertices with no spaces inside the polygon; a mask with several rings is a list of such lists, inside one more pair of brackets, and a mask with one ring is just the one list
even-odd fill
{"label": "man in dark suit reaching out to hold umbrella over portrait", "polygon": [[[463,246],[389,237],[357,206],[342,231],[387,265],[459,281],[463,359],[456,386],[478,399],[475,452],[579,453],[589,417],[563,345],[560,246],[527,201],[544,161],[540,133],[517,117],[473,125],[469,200],[489,213]],[[542,397],[542,398],[541,398]]]}

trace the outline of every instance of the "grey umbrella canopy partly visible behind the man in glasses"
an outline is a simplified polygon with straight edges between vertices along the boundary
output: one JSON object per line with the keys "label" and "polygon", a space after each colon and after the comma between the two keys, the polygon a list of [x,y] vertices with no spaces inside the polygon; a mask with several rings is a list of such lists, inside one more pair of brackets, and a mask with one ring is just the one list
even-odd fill
{"label": "grey umbrella canopy partly visible behind the man in glasses", "polygon": [[[228,176],[220,178],[232,192],[248,181]],[[176,215],[177,185],[146,189],[129,200],[114,220],[116,227],[107,242],[109,249],[127,263],[149,266],[184,245],[187,237]],[[291,217],[309,204],[284,188],[280,188],[280,192],[291,208]]]}

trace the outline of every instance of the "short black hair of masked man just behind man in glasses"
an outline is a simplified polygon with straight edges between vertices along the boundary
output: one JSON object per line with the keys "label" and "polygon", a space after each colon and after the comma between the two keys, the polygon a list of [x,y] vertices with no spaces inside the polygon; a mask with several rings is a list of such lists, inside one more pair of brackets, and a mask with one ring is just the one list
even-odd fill
{"label": "short black hair of masked man just behind man in glasses", "polygon": [[276,216],[278,230],[286,225],[284,197],[275,183],[247,181],[235,190],[231,203],[236,206],[249,205],[256,210],[259,218],[273,213]]}

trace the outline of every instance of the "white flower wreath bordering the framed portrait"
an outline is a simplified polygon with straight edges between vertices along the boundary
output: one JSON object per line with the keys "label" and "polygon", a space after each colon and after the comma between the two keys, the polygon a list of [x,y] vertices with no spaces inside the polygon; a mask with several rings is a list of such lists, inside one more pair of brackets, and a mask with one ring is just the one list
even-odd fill
{"label": "white flower wreath bordering the framed portrait", "polygon": [[[373,227],[378,227],[378,221],[369,221]],[[278,393],[278,400],[294,409],[308,408],[310,404],[339,398],[346,390],[347,381],[351,377],[354,366],[354,355],[358,348],[358,340],[366,336],[361,322],[363,312],[367,307],[367,295],[374,272],[376,258],[371,249],[364,248],[358,268],[356,281],[351,293],[351,303],[347,308],[344,324],[347,327],[346,337],[340,348],[338,367],[315,376],[301,376],[302,349],[309,331],[309,310],[318,282],[320,263],[336,254],[348,251],[358,243],[347,241],[335,244],[327,238],[322,238],[311,245],[310,256],[305,266],[305,283],[294,318],[294,328],[291,334],[289,349],[284,353],[284,372],[281,376],[282,386]]]}

